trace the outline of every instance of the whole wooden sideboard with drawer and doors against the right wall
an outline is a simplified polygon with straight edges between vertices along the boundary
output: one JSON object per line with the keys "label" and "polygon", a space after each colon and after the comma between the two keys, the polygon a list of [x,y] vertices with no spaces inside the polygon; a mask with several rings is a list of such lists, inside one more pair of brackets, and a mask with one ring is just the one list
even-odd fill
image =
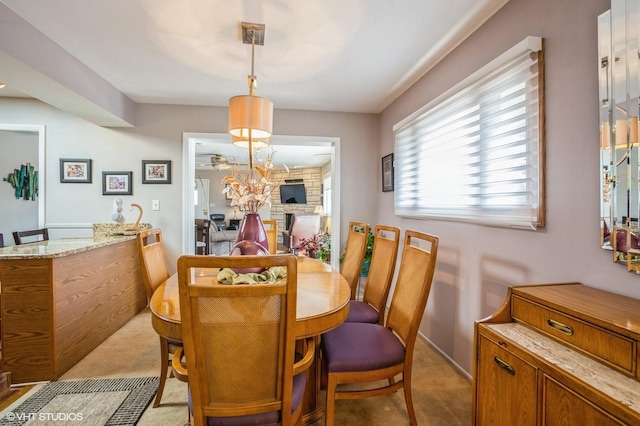
{"label": "whole wooden sideboard with drawer and doors against the right wall", "polygon": [[640,424],[640,300],[511,287],[475,323],[474,425]]}

